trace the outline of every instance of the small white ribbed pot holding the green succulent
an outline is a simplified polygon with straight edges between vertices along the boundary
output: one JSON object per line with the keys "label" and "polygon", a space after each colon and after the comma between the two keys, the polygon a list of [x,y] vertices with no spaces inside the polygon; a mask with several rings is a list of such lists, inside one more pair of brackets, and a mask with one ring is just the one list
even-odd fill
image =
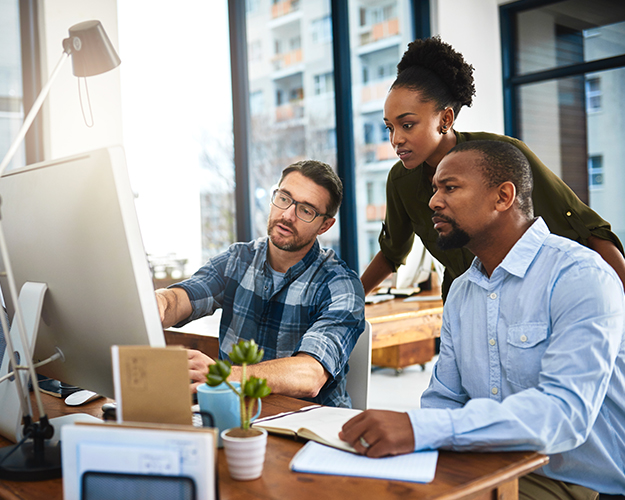
{"label": "small white ribbed pot holding the green succulent", "polygon": [[237,481],[259,478],[265,464],[267,431],[257,429],[262,431],[262,434],[252,437],[231,437],[226,435],[229,430],[222,431],[221,439],[224,443],[230,477]]}

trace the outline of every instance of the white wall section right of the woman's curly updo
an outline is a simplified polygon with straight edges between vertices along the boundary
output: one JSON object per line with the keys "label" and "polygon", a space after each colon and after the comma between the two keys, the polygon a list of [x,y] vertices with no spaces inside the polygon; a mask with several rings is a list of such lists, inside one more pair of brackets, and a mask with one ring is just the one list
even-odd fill
{"label": "white wall section right of the woman's curly updo", "polygon": [[432,34],[440,35],[475,68],[473,106],[463,108],[456,130],[503,134],[501,39],[497,0],[432,0]]}

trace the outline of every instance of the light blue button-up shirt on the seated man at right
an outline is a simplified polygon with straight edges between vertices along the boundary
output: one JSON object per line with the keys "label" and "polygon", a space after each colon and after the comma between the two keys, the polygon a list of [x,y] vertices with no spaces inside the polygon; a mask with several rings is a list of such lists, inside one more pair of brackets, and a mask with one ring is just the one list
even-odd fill
{"label": "light blue button-up shirt on the seated man at right", "polygon": [[623,286],[541,218],[489,278],[479,259],[445,303],[415,449],[536,450],[539,470],[625,493]]}

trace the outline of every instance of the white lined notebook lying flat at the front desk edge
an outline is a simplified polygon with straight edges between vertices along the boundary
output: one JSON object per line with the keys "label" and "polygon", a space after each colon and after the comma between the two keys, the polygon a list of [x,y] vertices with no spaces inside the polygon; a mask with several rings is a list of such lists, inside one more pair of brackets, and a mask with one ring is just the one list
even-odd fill
{"label": "white lined notebook lying flat at the front desk edge", "polygon": [[309,441],[289,468],[294,472],[356,476],[429,483],[436,474],[438,451],[417,451],[394,457],[369,458]]}

